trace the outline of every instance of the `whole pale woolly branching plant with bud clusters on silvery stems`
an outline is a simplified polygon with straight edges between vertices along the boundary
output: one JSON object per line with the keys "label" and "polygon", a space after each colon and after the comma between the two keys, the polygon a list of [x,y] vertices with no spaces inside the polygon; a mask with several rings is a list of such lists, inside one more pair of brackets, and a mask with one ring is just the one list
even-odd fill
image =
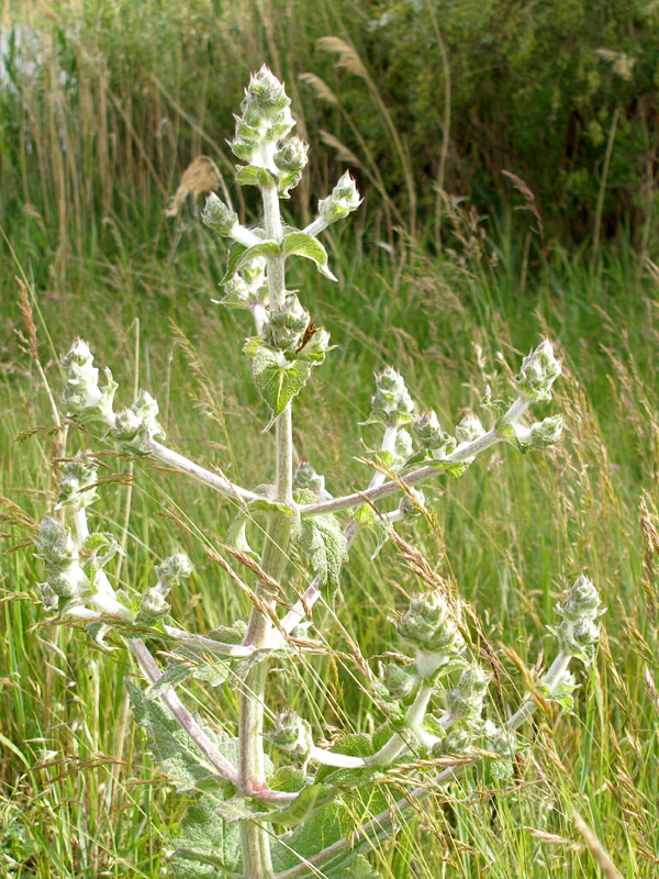
{"label": "whole pale woolly branching plant with bud clusters on silvery stems", "polygon": [[[250,615],[201,633],[172,619],[171,592],[188,589],[192,572],[183,553],[163,559],[142,594],[113,582],[110,563],[119,543],[89,525],[98,490],[98,461],[91,452],[64,466],[57,514],[43,520],[35,539],[44,567],[44,609],[60,619],[83,620],[102,649],[124,645],[146,679],[146,689],[131,681],[126,686],[149,747],[189,805],[169,864],[171,875],[181,879],[377,877],[365,852],[369,838],[372,844],[391,826],[392,803],[382,794],[388,776],[410,776],[406,799],[398,803],[401,811],[483,763],[491,778],[510,776],[520,748],[516,731],[539,697],[571,708],[576,681],[570,660],[592,661],[603,613],[595,587],[580,576],[556,609],[556,658],[535,692],[506,720],[489,705],[492,672],[473,647],[459,599],[439,579],[434,588],[425,582],[393,620],[392,658],[368,680],[381,722],[375,734],[346,734],[333,746],[319,745],[317,722],[293,710],[272,711],[268,668],[273,657],[281,666],[299,663],[305,649],[317,652],[317,642],[303,633],[313,623],[319,599],[333,605],[342,567],[360,530],[375,527],[386,537],[396,522],[423,510],[423,482],[459,477],[496,443],[522,452],[546,449],[562,430],[560,415],[535,423],[528,418],[535,403],[551,399],[561,371],[545,341],[522,361],[511,401],[493,400],[487,390],[481,403],[485,424],[470,414],[446,429],[435,412],[417,411],[395,369],[377,375],[365,423],[380,434],[379,466],[361,490],[335,498],[311,464],[293,469],[294,400],[331,345],[328,333],[311,323],[298,292],[287,289],[287,264],[303,257],[334,281],[319,236],[361,201],[355,180],[345,174],[319,202],[310,225],[299,230],[282,222],[280,199],[289,198],[308,162],[308,146],[291,135],[293,126],[282,84],[263,67],[250,79],[231,142],[242,163],[237,182],[256,187],[263,200],[263,227],[242,225],[215,194],[202,214],[210,230],[232,241],[220,302],[252,312],[254,334],[244,351],[264,403],[264,426],[273,429],[271,483],[244,488],[170,449],[158,404],[146,391],[133,405],[116,409],[112,374],[105,368],[100,379],[82,340],[62,358],[64,403],[72,422],[96,422],[120,450],[187,474],[238,511],[227,543],[249,568],[254,586],[245,587],[225,558],[217,560],[230,582],[247,589]],[[258,528],[253,527],[255,516]],[[293,549],[309,559],[315,575],[310,583],[295,582],[289,564]],[[164,641],[165,665],[153,653]],[[186,708],[177,688],[189,678],[237,689],[239,717],[233,736],[224,731],[226,717],[213,726]],[[356,822],[360,833],[348,844]],[[361,849],[356,838],[365,841]]]}

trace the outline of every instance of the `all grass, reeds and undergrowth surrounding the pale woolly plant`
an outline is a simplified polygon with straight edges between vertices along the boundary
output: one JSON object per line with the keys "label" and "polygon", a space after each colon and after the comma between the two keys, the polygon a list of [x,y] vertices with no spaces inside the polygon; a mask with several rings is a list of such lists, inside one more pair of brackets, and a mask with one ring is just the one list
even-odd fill
{"label": "all grass, reeds and undergrowth surrounding the pale woolly plant", "polygon": [[[432,9],[450,69],[480,69],[479,52],[485,49],[465,36],[476,27],[471,7],[463,4],[462,21],[460,4],[447,5],[454,18],[446,24],[442,4]],[[581,7],[561,8],[576,18]],[[311,269],[295,269],[312,318],[319,315],[339,345],[297,401],[304,425],[304,435],[294,436],[297,455],[319,472],[340,472],[331,489],[346,493],[370,478],[356,458],[364,455],[361,438],[375,442],[372,429],[358,426],[369,412],[373,371],[392,364],[414,399],[434,408],[443,423],[456,424],[460,408],[478,408],[487,385],[503,396],[520,357],[549,336],[565,358],[555,402],[565,418],[563,442],[548,454],[524,457],[502,446],[461,479],[437,480],[427,491],[436,519],[416,520],[402,534],[473,607],[501,665],[496,691],[504,710],[514,710],[523,696],[521,670],[533,669],[543,649],[551,652],[546,626],[580,571],[588,571],[608,609],[596,663],[580,676],[573,716],[540,710],[526,730],[534,748],[522,755],[512,780],[498,786],[483,776],[468,795],[456,788],[437,797],[395,845],[384,838],[373,848],[372,864],[387,879],[535,878],[549,870],[567,879],[595,877],[602,869],[615,876],[607,852],[619,875],[650,879],[659,863],[659,271],[646,259],[655,244],[654,193],[643,181],[654,179],[654,159],[650,129],[646,141],[641,127],[633,129],[640,118],[629,110],[638,84],[619,73],[619,64],[613,70],[615,58],[597,56],[600,74],[613,77],[621,94],[600,84],[589,98],[604,133],[597,141],[592,129],[589,151],[600,152],[582,159],[583,168],[596,164],[595,179],[583,168],[573,178],[585,174],[583,192],[552,173],[562,160],[558,135],[554,152],[538,151],[541,174],[532,158],[524,167],[509,164],[521,147],[502,159],[492,137],[496,105],[490,102],[494,121],[483,129],[481,156],[490,145],[502,169],[541,190],[536,202],[523,191],[509,201],[502,199],[499,169],[483,162],[485,174],[472,156],[460,185],[451,183],[451,162],[463,154],[462,108],[473,105],[460,90],[465,80],[451,92],[456,140],[445,141],[442,177],[442,136],[423,162],[410,160],[421,158],[433,140],[424,129],[429,99],[421,85],[413,102],[403,101],[400,89],[407,79],[421,81],[413,68],[423,60],[422,49],[433,52],[437,69],[445,64],[428,42],[429,30],[406,27],[410,16],[415,21],[414,7],[366,10],[324,2],[317,9],[305,15],[304,3],[282,4],[276,15],[267,3],[225,8],[202,0],[187,4],[185,13],[168,3],[7,8],[5,21],[15,26],[4,31],[9,73],[0,98],[0,494],[7,549],[0,560],[0,875],[153,877],[171,852],[180,798],[163,785],[133,724],[123,685],[133,674],[126,657],[100,656],[76,626],[42,624],[35,590],[41,572],[25,547],[53,502],[57,450],[31,332],[56,399],[59,355],[80,334],[112,364],[124,388],[138,376],[157,397],[176,448],[208,467],[221,463],[242,485],[269,477],[273,457],[264,453],[263,404],[235,342],[244,329],[238,331],[235,312],[210,301],[217,297],[224,249],[203,230],[194,191],[175,215],[165,215],[182,171],[203,154],[213,160],[205,171],[214,188],[228,192],[246,222],[255,219],[255,202],[243,202],[231,182],[222,137],[249,71],[265,58],[287,81],[300,133],[322,157],[294,194],[291,219],[311,219],[312,205],[348,157],[353,165],[357,160],[366,193],[367,210],[326,242],[339,283],[330,288]],[[633,10],[625,18],[616,9],[602,4],[600,14],[613,34],[635,38],[615,43],[615,52],[640,53],[636,69],[649,84],[643,53],[649,52],[651,29],[646,22],[646,33],[641,25],[650,13]],[[353,55],[345,48],[350,14],[360,22],[351,32]],[[382,24],[384,14],[390,19]],[[386,36],[367,26],[376,20],[380,31],[389,29]],[[562,46],[561,20],[554,38]],[[529,22],[528,32],[539,41],[541,22]],[[23,25],[38,33],[36,59],[20,60],[21,41],[32,45],[34,34],[21,31]],[[636,38],[639,33],[643,38]],[[399,49],[396,34],[412,41],[410,55]],[[319,47],[316,38],[327,36],[344,41],[344,48],[336,42]],[[574,40],[588,55],[610,47],[600,45],[601,36],[578,31]],[[461,40],[478,52],[456,58]],[[569,79],[548,63],[549,69],[543,67],[550,45],[546,55],[533,56],[536,69],[527,81],[536,88]],[[346,64],[335,69],[337,57],[351,59],[351,71]],[[398,80],[391,57],[404,68]],[[512,65],[510,52],[505,57]],[[567,55],[556,64],[561,57]],[[368,76],[355,73],[358,64]],[[520,56],[518,64],[523,73],[530,62]],[[503,116],[515,80],[505,80],[505,65],[498,69],[509,89],[498,92]],[[300,78],[310,71],[328,89],[324,103],[322,86]],[[606,112],[597,104],[604,94],[611,102]],[[561,98],[562,92],[555,99],[559,108]],[[418,127],[407,119],[416,104],[423,108]],[[446,104],[438,105],[446,123]],[[638,105],[649,113],[650,98]],[[517,110],[523,120],[523,104]],[[643,119],[648,125],[647,113]],[[376,122],[380,127],[368,131]],[[629,126],[634,136],[618,140]],[[327,136],[323,152],[314,142],[320,129],[340,143]],[[636,143],[643,160],[627,152]],[[626,179],[632,173],[637,176]],[[487,186],[480,186],[480,174]],[[577,207],[574,191],[583,198]],[[460,201],[449,192],[471,198]],[[514,204],[539,204],[541,212],[514,212]],[[21,310],[14,276],[26,285],[30,309]],[[29,310],[34,331],[25,320]],[[71,432],[69,444],[89,443]],[[177,619],[198,627],[204,619],[220,624],[245,615],[246,601],[204,554],[230,522],[215,496],[109,447],[103,476],[99,510],[131,547],[113,571],[120,581],[143,589],[156,556],[182,546],[196,575],[192,599],[174,594]],[[354,686],[347,657],[391,650],[392,627],[383,625],[382,611],[403,607],[396,585],[416,590],[400,547],[387,545],[370,563],[373,548],[368,536],[360,538],[345,569],[336,616],[320,612],[334,649],[277,685],[282,705],[295,692],[308,713],[324,719],[327,738],[333,727],[370,732],[379,722],[368,693]],[[503,644],[513,649],[503,652]],[[190,692],[202,714],[235,722],[235,691],[193,686]]]}

